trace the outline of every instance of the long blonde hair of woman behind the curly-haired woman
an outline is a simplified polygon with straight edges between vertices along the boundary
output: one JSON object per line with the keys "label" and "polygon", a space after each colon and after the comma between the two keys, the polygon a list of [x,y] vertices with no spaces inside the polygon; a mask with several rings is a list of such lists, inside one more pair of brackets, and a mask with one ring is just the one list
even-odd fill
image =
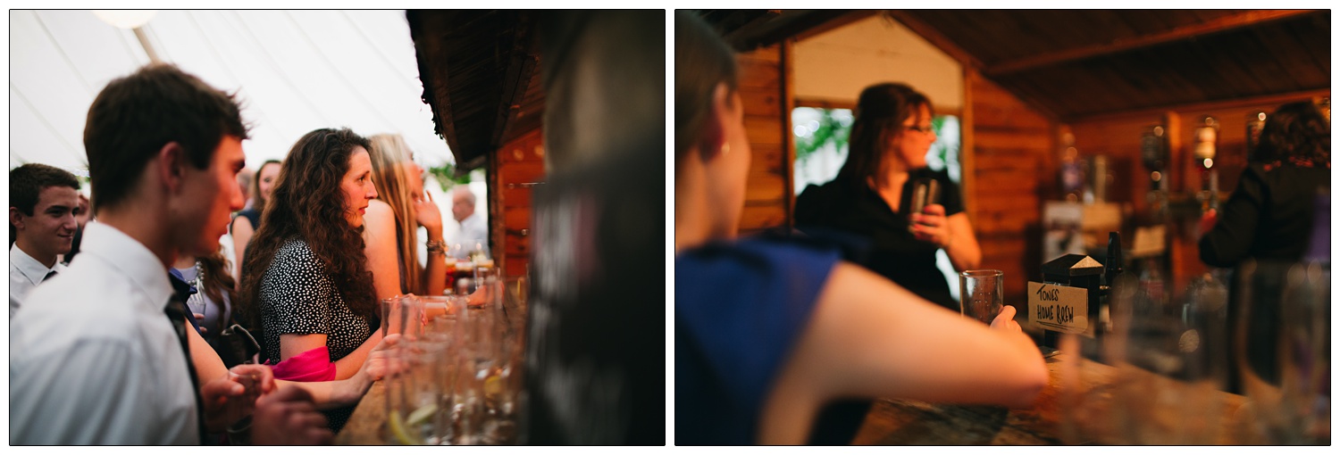
{"label": "long blonde hair of woman behind the curly-haired woman", "polygon": [[378,134],[368,138],[373,147],[367,150],[373,159],[373,185],[377,185],[377,198],[391,206],[395,213],[395,248],[401,254],[402,290],[425,294],[427,284],[423,282],[422,270],[418,266],[418,248],[415,248],[415,221],[414,195],[409,193],[405,163],[414,161],[405,138],[398,134]]}

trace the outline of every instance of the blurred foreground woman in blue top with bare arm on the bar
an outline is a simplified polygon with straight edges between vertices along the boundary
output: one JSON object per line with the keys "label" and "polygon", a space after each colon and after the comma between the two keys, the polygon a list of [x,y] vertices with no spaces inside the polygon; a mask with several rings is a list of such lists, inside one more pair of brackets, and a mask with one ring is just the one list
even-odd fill
{"label": "blurred foreground woman in blue top with bare arm on the bar", "polygon": [[733,237],[749,142],[734,55],[675,13],[675,444],[804,443],[843,397],[1029,405],[1043,357],[817,245]]}

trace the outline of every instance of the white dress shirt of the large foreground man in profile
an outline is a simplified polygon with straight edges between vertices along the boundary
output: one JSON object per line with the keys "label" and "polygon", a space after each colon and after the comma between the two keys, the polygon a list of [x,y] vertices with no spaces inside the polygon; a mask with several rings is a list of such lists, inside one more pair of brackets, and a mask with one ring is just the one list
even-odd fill
{"label": "white dress shirt of the large foreground man in profile", "polygon": [[9,443],[200,444],[168,269],[99,222],[80,248],[9,324]]}

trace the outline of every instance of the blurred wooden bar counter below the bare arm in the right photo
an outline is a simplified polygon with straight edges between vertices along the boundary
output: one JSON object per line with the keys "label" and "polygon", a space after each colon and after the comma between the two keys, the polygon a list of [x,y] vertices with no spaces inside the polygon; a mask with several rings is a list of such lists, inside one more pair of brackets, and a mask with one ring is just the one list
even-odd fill
{"label": "blurred wooden bar counter below the bare arm in the right photo", "polygon": [[[1067,367],[1069,363],[1071,368]],[[1069,368],[1069,369],[1068,369]],[[1065,353],[1047,359],[1051,376],[1047,387],[1029,408],[1008,410],[992,405],[930,404],[917,400],[878,400],[866,415],[854,444],[896,446],[1041,446],[1041,444],[1130,444],[1127,435],[1114,431],[1114,393],[1119,387],[1119,371],[1092,360],[1075,363]],[[1069,376],[1069,379],[1067,379]],[[1079,376],[1079,377],[1075,377]],[[1155,379],[1148,373],[1151,381]],[[1077,388],[1067,384],[1079,383]],[[1159,383],[1160,391],[1143,397],[1146,403],[1183,396],[1211,397],[1198,410],[1218,419],[1218,431],[1210,431],[1215,444],[1238,444],[1235,415],[1244,396],[1213,391],[1194,393],[1175,389],[1186,384]],[[1122,381],[1128,384],[1128,381]],[[1186,393],[1183,393],[1186,392]],[[1079,404],[1076,404],[1079,403]],[[1190,407],[1182,407],[1190,408]],[[1218,410],[1215,412],[1215,408]],[[1209,410],[1209,411],[1205,411]],[[1167,414],[1166,408],[1159,410]],[[1156,415],[1143,420],[1147,426],[1163,426],[1156,432],[1171,432],[1170,426],[1183,424],[1179,416]],[[1214,422],[1215,419],[1210,419]],[[1156,443],[1156,442],[1155,442]],[[1199,442],[1190,442],[1199,444]],[[1177,444],[1177,443],[1172,443]]]}

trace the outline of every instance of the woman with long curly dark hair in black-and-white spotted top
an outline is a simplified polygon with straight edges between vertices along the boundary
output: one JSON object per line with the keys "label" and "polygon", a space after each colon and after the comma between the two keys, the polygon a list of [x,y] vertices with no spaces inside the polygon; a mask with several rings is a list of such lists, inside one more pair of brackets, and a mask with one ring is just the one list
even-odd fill
{"label": "woman with long curly dark hair in black-and-white spotted top", "polygon": [[[260,329],[275,379],[358,372],[381,340],[363,214],[377,197],[371,143],[347,128],[308,132],[284,159],[243,265],[243,317]],[[339,431],[352,408],[327,412]]]}

